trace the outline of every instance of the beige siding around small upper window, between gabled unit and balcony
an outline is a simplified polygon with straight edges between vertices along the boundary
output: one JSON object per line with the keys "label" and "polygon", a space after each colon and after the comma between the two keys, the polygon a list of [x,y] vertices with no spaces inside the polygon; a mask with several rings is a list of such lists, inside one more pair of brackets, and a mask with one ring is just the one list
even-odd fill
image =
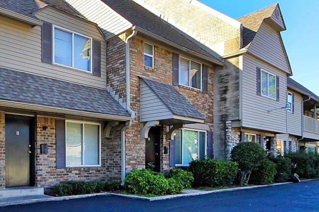
{"label": "beige siding around small upper window, between gabled unit and balcony", "polygon": [[294,97],[294,113],[288,113],[288,133],[295,136],[301,136],[301,118],[302,118],[302,95],[288,90]]}

